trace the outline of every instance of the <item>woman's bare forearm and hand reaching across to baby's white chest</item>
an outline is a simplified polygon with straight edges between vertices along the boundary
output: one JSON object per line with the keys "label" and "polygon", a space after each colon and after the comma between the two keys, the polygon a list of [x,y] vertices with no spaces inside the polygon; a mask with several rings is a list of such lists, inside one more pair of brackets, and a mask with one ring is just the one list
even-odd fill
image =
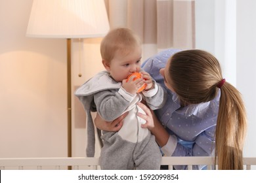
{"label": "woman's bare forearm and hand reaching across to baby's white chest", "polygon": [[146,105],[142,103],[137,103],[139,107],[144,110],[146,114],[138,113],[138,116],[144,120],[146,120],[146,124],[142,124],[141,127],[147,127],[151,133],[156,137],[156,142],[158,142],[159,146],[165,146],[169,139],[169,133],[165,130],[163,125],[161,125],[158,118],[152,110],[150,110]]}

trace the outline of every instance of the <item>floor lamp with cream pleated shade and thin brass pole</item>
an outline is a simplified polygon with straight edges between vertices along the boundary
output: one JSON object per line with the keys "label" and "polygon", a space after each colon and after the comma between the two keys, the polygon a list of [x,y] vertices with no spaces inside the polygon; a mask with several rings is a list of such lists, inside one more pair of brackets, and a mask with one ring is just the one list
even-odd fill
{"label": "floor lamp with cream pleated shade and thin brass pole", "polygon": [[104,0],[33,0],[26,36],[67,40],[68,157],[72,157],[72,39],[103,37],[109,29]]}

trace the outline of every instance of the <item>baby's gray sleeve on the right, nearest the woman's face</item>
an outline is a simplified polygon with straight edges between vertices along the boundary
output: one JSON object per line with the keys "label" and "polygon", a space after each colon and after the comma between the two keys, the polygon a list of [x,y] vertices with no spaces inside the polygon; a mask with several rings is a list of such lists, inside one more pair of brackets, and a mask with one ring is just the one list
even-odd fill
{"label": "baby's gray sleeve on the right, nearest the woman's face", "polygon": [[167,100],[167,92],[164,88],[161,87],[160,84],[155,82],[158,85],[158,92],[156,95],[152,97],[143,97],[144,101],[148,104],[152,110],[156,110],[158,108],[163,107],[165,105],[165,101]]}

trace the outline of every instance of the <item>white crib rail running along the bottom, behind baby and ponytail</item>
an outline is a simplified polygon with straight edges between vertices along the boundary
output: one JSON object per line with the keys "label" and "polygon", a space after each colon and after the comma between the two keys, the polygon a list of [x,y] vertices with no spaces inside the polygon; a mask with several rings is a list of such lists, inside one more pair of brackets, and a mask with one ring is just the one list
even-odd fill
{"label": "white crib rail running along the bottom, behind baby and ponytail", "polygon": [[[162,165],[207,165],[207,169],[215,169],[214,158],[211,157],[163,157]],[[99,169],[98,158],[0,158],[0,169]],[[256,165],[256,158],[244,158],[244,169]]]}

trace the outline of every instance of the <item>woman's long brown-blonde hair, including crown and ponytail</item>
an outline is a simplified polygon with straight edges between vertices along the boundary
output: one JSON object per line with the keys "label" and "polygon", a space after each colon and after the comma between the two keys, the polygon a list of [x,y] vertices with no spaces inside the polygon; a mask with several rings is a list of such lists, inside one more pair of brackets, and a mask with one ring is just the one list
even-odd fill
{"label": "woman's long brown-blonde hair, including crown and ponytail", "polygon": [[215,163],[219,169],[243,169],[247,120],[240,92],[223,80],[219,61],[209,52],[184,50],[170,59],[169,77],[182,103],[211,101],[221,90],[215,131]]}

